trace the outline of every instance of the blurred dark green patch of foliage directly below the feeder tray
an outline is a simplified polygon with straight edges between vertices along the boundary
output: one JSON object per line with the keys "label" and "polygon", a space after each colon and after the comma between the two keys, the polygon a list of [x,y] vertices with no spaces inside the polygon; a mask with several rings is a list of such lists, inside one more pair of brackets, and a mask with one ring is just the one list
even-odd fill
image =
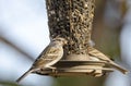
{"label": "blurred dark green patch of foliage directly below the feeder tray", "polygon": [[55,78],[52,86],[102,86],[105,76],[67,76]]}

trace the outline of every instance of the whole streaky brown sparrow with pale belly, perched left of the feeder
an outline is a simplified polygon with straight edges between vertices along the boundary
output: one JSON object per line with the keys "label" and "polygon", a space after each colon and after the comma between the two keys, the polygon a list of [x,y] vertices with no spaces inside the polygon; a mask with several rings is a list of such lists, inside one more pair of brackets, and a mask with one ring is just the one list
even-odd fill
{"label": "whole streaky brown sparrow with pale belly, perched left of the feeder", "polygon": [[56,67],[51,65],[56,64],[63,57],[63,46],[66,44],[67,40],[64,38],[51,39],[50,44],[35,60],[32,67],[27,72],[25,72],[20,78],[17,78],[16,83],[21,82],[25,76],[33,72],[37,72],[44,69],[55,70]]}

